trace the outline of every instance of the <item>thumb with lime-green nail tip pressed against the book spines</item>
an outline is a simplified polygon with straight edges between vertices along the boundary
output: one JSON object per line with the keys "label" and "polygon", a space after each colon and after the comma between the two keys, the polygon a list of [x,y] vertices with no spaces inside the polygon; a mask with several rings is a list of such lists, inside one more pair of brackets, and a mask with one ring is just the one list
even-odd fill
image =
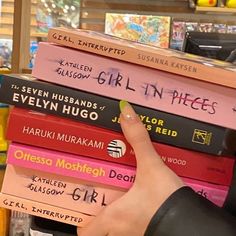
{"label": "thumb with lime-green nail tip pressed against the book spines", "polygon": [[[147,168],[157,163],[163,164],[160,156],[156,153],[148,131],[127,101],[120,101],[120,124],[126,140],[134,149],[137,167]],[[157,162],[157,163],[156,163]],[[146,169],[147,170],[147,169]]]}

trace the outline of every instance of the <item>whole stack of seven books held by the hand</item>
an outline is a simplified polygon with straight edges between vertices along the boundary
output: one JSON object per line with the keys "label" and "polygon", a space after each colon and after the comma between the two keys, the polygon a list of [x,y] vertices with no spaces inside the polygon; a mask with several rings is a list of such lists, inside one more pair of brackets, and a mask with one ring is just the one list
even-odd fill
{"label": "whole stack of seven books held by the hand", "polygon": [[[14,107],[0,205],[80,227],[135,181],[119,124],[132,105],[162,160],[222,206],[236,150],[233,65],[85,30],[52,28],[32,75],[5,75]],[[148,172],[148,170],[147,170]]]}

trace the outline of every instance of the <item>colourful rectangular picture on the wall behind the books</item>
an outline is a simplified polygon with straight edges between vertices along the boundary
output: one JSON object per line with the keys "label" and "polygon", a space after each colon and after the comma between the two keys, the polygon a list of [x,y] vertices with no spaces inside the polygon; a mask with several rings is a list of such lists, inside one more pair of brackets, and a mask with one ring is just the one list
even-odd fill
{"label": "colourful rectangular picture on the wall behind the books", "polygon": [[169,16],[107,13],[105,33],[135,42],[168,48],[170,21]]}

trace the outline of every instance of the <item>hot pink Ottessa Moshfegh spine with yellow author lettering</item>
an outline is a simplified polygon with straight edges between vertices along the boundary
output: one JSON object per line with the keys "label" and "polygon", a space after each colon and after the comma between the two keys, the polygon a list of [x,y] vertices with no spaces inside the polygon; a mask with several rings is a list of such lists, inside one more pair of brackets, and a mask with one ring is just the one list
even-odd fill
{"label": "hot pink Ottessa Moshfegh spine with yellow author lettering", "polygon": [[[74,155],[67,153],[15,143],[11,144],[9,147],[7,161],[8,164],[16,166],[70,176],[87,180],[92,183],[102,183],[126,190],[132,186],[135,180],[135,168],[80,156],[76,157],[77,159]],[[60,166],[58,166],[58,163]],[[62,166],[61,163],[64,163],[64,165]],[[74,168],[78,166],[81,167],[83,172],[80,171],[79,168]],[[89,170],[89,172],[85,172],[86,170]],[[96,173],[96,176],[93,176],[92,174],[94,170],[96,170],[94,172]],[[218,185],[206,184],[205,182],[200,181],[198,181],[198,185],[196,185],[196,182],[188,178],[183,178],[183,181],[195,191],[198,191],[200,186],[207,192],[211,190],[211,194],[208,194],[208,199],[215,204],[223,204],[224,197],[222,197],[222,190],[224,191],[223,196],[226,196],[229,189],[225,186],[220,187]],[[216,199],[220,200],[216,201]]]}

